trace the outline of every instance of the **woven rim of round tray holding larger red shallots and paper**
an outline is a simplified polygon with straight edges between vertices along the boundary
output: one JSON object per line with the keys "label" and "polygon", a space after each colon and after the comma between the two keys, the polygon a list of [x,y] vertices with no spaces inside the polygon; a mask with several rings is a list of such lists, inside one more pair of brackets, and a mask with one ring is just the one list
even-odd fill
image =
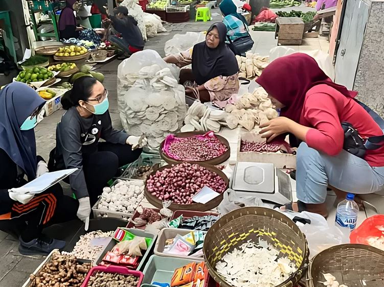
{"label": "woven rim of round tray holding larger red shallots and paper", "polygon": [[[198,165],[200,165],[200,166],[206,168],[207,170],[219,175],[224,180],[224,182],[226,184],[225,189],[228,188],[228,185],[229,185],[228,177],[222,171],[220,171],[218,168],[216,168],[216,166],[206,164],[206,163],[198,163]],[[167,165],[162,166],[157,171],[163,171],[163,170],[169,169],[171,167],[172,167],[171,164],[167,164]],[[155,173],[156,173],[156,171],[153,171],[151,173],[151,175],[153,175]],[[163,208],[163,202],[160,199],[158,199],[157,197],[153,196],[150,192],[148,192],[147,186],[144,186],[144,196],[150,204],[154,205],[157,208]],[[223,193],[220,194],[218,197],[215,197],[211,201],[207,202],[206,204],[201,204],[201,203],[176,204],[176,203],[172,203],[168,208],[171,209],[172,211],[175,211],[175,210],[207,211],[207,210],[211,210],[211,209],[217,207],[222,200],[223,200]]]}

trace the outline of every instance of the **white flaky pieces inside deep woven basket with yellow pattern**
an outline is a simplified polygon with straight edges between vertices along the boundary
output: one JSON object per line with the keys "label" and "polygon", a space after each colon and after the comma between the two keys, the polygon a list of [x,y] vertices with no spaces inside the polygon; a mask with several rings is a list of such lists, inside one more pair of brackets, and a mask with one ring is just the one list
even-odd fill
{"label": "white flaky pieces inside deep woven basket with yellow pattern", "polygon": [[278,258],[279,251],[266,241],[248,241],[225,254],[216,264],[216,271],[234,287],[276,286],[297,270],[288,258]]}

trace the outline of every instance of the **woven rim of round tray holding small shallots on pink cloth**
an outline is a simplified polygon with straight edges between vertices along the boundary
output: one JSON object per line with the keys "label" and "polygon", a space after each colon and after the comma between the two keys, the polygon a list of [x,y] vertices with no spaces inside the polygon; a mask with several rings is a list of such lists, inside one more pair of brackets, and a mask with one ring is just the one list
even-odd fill
{"label": "woven rim of round tray holding small shallots on pink cloth", "polygon": [[[203,135],[206,134],[207,132],[201,132],[201,131],[195,131],[195,132],[185,132],[185,133],[175,133],[175,137],[181,137],[181,138],[187,138],[187,137],[192,137],[195,135]],[[220,163],[223,163],[225,160],[229,159],[231,156],[231,149],[230,149],[230,144],[227,139],[222,137],[221,135],[215,134],[215,136],[218,138],[218,140],[225,146],[227,147],[227,151],[225,151],[222,155],[209,159],[209,160],[202,160],[202,161],[188,161],[188,162],[193,162],[193,163],[207,163],[207,164],[212,164],[212,165],[217,165]],[[174,158],[171,158],[167,156],[163,152],[163,147],[164,147],[164,142],[165,140],[162,141],[160,144],[160,156],[162,159],[164,159],[167,163],[169,164],[177,164],[177,163],[182,163],[183,160],[176,160]],[[185,161],[185,160],[184,160]]]}

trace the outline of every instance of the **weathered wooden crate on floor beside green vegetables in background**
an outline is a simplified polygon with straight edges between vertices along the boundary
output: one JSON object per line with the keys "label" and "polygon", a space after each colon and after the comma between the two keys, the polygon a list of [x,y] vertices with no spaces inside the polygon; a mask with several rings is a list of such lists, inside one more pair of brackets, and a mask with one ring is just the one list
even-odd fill
{"label": "weathered wooden crate on floor beside green vegetables in background", "polygon": [[278,45],[301,45],[304,33],[304,22],[299,17],[276,18],[275,39]]}

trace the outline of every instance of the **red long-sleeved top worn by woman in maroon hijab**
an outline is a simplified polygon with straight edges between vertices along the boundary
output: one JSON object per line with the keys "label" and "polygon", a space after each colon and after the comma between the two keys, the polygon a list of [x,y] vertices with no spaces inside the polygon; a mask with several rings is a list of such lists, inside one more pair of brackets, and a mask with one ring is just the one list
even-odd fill
{"label": "red long-sleeved top worn by woman in maroon hijab", "polygon": [[[363,138],[382,134],[362,106],[333,87],[321,84],[305,94],[300,124],[313,128],[306,134],[309,147],[331,156],[340,153],[344,142],[341,122],[350,123]],[[364,159],[371,166],[384,166],[384,147],[368,150]]]}

